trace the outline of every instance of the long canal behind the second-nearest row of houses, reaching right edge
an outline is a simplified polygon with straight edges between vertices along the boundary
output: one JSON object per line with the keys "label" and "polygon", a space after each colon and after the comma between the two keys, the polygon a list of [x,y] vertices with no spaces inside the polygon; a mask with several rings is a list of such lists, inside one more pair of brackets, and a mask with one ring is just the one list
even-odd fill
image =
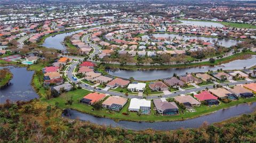
{"label": "long canal behind the second-nearest row of houses, reaching right edge", "polygon": [[165,70],[107,70],[110,75],[129,79],[133,77],[136,80],[147,81],[147,80],[157,80],[172,77],[173,73],[178,75],[191,73],[191,72],[207,72],[208,70],[216,71],[217,69],[223,70],[236,70],[243,69],[244,66],[247,68],[256,65],[256,56],[246,60],[236,60],[229,63],[221,64],[218,66],[196,66],[191,68],[171,68]]}

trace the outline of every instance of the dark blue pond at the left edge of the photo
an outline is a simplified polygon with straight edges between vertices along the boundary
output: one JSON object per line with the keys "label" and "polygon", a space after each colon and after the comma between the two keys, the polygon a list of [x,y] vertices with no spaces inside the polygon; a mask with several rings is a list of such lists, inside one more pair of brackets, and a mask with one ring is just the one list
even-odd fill
{"label": "dark blue pond at the left edge of the photo", "polygon": [[9,68],[13,78],[10,80],[10,85],[1,88],[0,103],[5,103],[6,99],[16,102],[18,100],[28,101],[39,97],[30,85],[34,71],[27,71],[26,68],[14,66],[0,67],[0,69],[3,68]]}

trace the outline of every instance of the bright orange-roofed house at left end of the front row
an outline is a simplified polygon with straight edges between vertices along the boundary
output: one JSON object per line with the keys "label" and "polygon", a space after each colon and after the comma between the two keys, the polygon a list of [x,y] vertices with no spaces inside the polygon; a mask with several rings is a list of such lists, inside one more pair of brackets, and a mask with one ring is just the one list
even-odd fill
{"label": "bright orange-roofed house at left end of the front row", "polygon": [[98,92],[94,92],[94,93],[90,93],[90,94],[84,96],[84,98],[81,99],[80,102],[92,105],[92,104],[104,99],[105,97],[106,97],[105,94],[100,94]]}

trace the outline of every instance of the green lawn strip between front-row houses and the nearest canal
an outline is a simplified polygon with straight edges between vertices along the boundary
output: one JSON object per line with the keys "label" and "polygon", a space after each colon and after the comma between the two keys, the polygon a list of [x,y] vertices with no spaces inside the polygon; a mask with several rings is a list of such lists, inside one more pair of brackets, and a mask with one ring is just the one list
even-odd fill
{"label": "green lawn strip between front-row houses and the nearest canal", "polygon": [[[162,115],[156,115],[155,111],[153,110],[154,105],[151,102],[151,113],[150,115],[137,115],[137,112],[129,112],[128,107],[130,105],[130,101],[128,101],[125,106],[122,108],[120,112],[114,112],[114,111],[108,111],[105,108],[102,108],[101,110],[92,111],[92,106],[79,103],[78,101],[82,99],[85,95],[89,94],[90,91],[83,90],[83,89],[77,89],[74,91],[69,91],[64,94],[62,94],[60,97],[52,98],[50,100],[47,100],[45,98],[41,98],[42,102],[49,103],[51,105],[55,105],[55,102],[59,102],[59,107],[61,109],[63,108],[72,108],[77,111],[81,111],[84,113],[89,113],[95,116],[101,116],[101,117],[109,117],[116,120],[132,120],[132,121],[171,121],[171,120],[182,120],[182,119],[189,119],[191,117],[197,117],[199,115],[208,114],[217,110],[220,110],[222,108],[228,108],[230,106],[235,106],[242,103],[249,103],[249,102],[256,102],[256,98],[239,98],[239,100],[232,101],[230,103],[222,103],[219,106],[206,106],[201,105],[199,107],[194,107],[196,112],[183,112],[179,115],[172,115],[172,116],[162,116]],[[65,105],[66,98],[67,97],[73,97],[74,103],[72,105]],[[181,111],[181,110],[180,110]],[[123,115],[122,113],[128,113],[128,115]]]}

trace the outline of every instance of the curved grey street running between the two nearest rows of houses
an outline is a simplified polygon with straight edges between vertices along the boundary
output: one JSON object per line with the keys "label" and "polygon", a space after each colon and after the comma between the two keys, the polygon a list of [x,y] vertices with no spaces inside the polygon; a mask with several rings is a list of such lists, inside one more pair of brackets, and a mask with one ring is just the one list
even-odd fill
{"label": "curved grey street running between the two nearest rows of houses", "polygon": [[[69,71],[66,71],[67,72],[67,77],[68,79],[71,81],[71,82],[75,82],[75,83],[78,83],[79,81],[77,80],[73,80],[73,70],[75,69],[76,65],[79,64],[79,62],[74,62],[73,64],[70,65],[70,70]],[[230,83],[221,83],[220,85],[225,87],[227,84],[229,86],[234,86],[234,85],[238,85],[238,84],[245,84],[245,83],[252,83],[254,82],[254,80],[252,81],[238,81],[238,82],[230,82]],[[87,90],[91,90],[91,91],[96,91],[96,92],[100,92],[100,93],[103,93],[103,94],[110,94],[110,95],[114,95],[114,96],[123,96],[125,97],[125,94],[122,94],[120,92],[113,92],[113,91],[106,91],[106,90],[102,90],[102,89],[99,89],[99,88],[93,88],[89,85],[85,85],[85,84],[81,84],[80,85],[82,88],[84,89],[87,89]],[[188,90],[184,90],[184,91],[177,91],[175,93],[172,93],[172,94],[167,94],[167,95],[162,95],[162,97],[165,97],[165,98],[170,98],[170,97],[175,97],[175,96],[178,96],[180,94],[189,94],[190,92],[196,92],[196,91],[200,91],[200,90],[203,90],[205,88],[213,88],[213,85],[211,86],[204,86],[204,87],[198,87],[198,88],[193,88],[193,89],[188,89]],[[143,98],[142,96],[135,96],[135,95],[129,95],[128,98]],[[156,98],[160,98],[159,96],[148,96],[147,99],[156,99]]]}

